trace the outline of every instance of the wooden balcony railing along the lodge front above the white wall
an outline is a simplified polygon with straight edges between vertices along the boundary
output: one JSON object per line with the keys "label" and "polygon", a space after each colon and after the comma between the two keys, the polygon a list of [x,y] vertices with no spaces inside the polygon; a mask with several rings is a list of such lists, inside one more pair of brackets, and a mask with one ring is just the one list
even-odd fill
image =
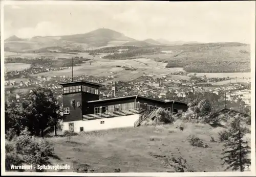
{"label": "wooden balcony railing along the lodge front above the white wall", "polygon": [[117,116],[125,116],[125,115],[133,115],[133,114],[145,114],[147,110],[144,109],[131,109],[131,110],[120,110],[114,112],[104,112],[98,114],[86,114],[82,116],[82,120],[90,120],[90,119],[100,119],[100,118],[110,118]]}

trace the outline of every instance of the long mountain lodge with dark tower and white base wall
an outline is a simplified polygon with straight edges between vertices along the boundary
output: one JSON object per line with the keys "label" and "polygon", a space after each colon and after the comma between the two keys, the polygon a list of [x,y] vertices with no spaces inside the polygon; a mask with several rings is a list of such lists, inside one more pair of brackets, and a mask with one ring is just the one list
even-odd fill
{"label": "long mountain lodge with dark tower and white base wall", "polygon": [[63,97],[63,131],[82,132],[122,127],[137,127],[153,118],[157,108],[180,115],[187,104],[140,95],[99,99],[98,83],[73,81],[59,83]]}

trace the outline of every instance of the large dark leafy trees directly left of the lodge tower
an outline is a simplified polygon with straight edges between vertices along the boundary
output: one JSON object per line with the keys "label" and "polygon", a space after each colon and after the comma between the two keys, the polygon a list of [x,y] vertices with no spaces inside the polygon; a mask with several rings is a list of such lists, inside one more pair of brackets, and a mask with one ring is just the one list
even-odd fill
{"label": "large dark leafy trees directly left of the lodge tower", "polygon": [[58,101],[50,89],[37,88],[22,103],[5,107],[6,131],[13,128],[18,135],[25,128],[35,136],[44,137],[52,130],[56,135],[60,119]]}

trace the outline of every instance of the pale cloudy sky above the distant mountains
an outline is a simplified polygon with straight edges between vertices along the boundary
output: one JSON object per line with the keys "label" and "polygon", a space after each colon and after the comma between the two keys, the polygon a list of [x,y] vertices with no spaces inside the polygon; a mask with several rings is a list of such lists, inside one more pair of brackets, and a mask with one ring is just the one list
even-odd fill
{"label": "pale cloudy sky above the distant mountains", "polygon": [[255,24],[255,3],[250,1],[8,3],[4,6],[4,39],[108,28],[137,40],[250,43]]}

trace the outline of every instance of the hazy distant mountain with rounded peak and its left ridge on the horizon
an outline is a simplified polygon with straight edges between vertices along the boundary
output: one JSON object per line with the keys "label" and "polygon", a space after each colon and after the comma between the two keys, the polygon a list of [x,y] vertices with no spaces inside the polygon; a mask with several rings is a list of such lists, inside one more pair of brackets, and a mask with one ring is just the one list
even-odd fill
{"label": "hazy distant mountain with rounded peak and its left ridge on the horizon", "polygon": [[12,36],[5,40],[5,51],[38,53],[41,48],[56,46],[71,50],[85,50],[88,47],[102,47],[109,44],[115,46],[127,42],[136,42],[136,40],[110,29],[98,29],[89,33],[68,36],[35,36],[31,39]]}

